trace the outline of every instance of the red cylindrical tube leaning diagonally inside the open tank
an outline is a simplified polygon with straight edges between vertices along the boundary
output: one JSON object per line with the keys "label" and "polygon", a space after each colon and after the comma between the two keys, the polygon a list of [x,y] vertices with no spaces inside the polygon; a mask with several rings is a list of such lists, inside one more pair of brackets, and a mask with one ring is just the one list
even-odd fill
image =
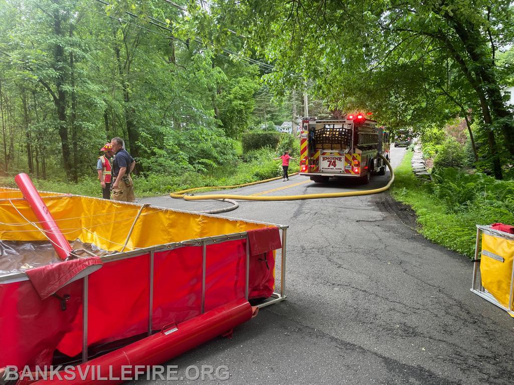
{"label": "red cylindrical tube leaning diagonally inside the open tank", "polygon": [[71,246],[50,214],[50,211],[48,211],[48,207],[45,202],[43,202],[43,199],[41,199],[38,190],[35,188],[29,176],[24,173],[18,174],[14,177],[14,181],[18,187],[20,187],[23,197],[29,203],[41,227],[43,227],[46,235],[51,240],[57,255],[61,259],[66,259],[71,252]]}

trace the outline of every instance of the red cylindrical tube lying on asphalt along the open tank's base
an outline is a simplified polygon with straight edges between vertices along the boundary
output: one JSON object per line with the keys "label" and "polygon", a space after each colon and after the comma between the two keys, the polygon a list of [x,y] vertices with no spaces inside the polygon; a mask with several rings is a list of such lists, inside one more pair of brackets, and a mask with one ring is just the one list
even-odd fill
{"label": "red cylindrical tube lying on asphalt along the open tank's base", "polygon": [[[119,384],[135,377],[136,366],[142,369],[148,365],[162,364],[248,321],[252,318],[252,313],[252,307],[247,300],[234,300],[178,325],[165,327],[162,331],[124,348],[78,365],[73,374],[68,370],[61,372],[61,378],[54,377],[53,380],[40,380],[33,383]],[[131,369],[127,371],[129,367]],[[88,371],[87,375],[84,376],[86,371]],[[142,373],[140,370],[140,378],[146,378]]]}

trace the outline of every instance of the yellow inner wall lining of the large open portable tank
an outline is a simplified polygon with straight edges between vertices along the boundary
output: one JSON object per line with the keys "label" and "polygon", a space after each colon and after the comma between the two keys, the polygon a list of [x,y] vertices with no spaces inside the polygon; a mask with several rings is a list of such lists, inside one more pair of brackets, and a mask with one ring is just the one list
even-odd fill
{"label": "yellow inner wall lining of the large open portable tank", "polygon": [[[67,240],[79,239],[106,251],[119,251],[125,242],[124,251],[128,252],[189,239],[242,233],[267,226],[150,205],[54,192],[40,194]],[[23,220],[20,213],[32,224]],[[2,240],[47,240],[42,230],[35,227],[41,226],[20,190],[0,188],[0,218]],[[132,233],[127,241],[131,228]]]}

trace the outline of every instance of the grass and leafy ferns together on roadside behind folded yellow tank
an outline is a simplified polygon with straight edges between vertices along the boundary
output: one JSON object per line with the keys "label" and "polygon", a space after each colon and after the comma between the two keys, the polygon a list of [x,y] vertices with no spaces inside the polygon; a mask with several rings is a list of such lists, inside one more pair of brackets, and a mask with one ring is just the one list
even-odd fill
{"label": "grass and leafy ferns together on roadside behind folded yellow tank", "polygon": [[476,224],[514,223],[514,182],[454,168],[435,172],[433,182],[417,179],[412,152],[395,169],[393,196],[416,212],[419,231],[428,239],[470,258]]}

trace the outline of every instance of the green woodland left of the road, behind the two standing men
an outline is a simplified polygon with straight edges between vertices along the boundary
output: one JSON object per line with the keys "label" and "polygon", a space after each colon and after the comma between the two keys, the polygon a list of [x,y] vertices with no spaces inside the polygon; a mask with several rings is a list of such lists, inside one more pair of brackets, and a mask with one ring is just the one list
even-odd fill
{"label": "green woodland left of the road, behind the two standing men", "polygon": [[243,132],[301,113],[262,84],[270,66],[237,55],[243,40],[219,48],[217,27],[188,17],[205,8],[111,3],[0,0],[0,174],[94,184],[120,136],[140,176],[217,178],[239,167]]}

